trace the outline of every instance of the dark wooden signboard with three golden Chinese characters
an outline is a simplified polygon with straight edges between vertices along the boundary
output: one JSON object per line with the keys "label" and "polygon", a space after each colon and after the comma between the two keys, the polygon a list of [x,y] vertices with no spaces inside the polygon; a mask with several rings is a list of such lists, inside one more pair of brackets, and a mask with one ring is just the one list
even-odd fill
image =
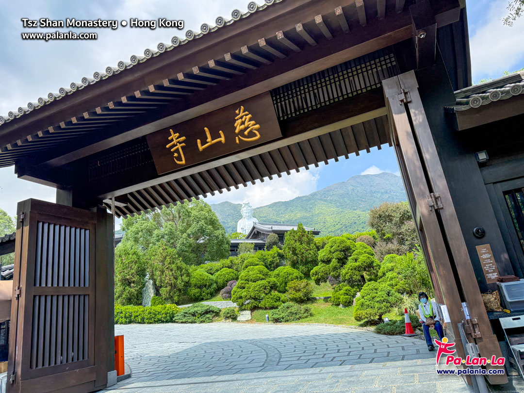
{"label": "dark wooden signboard with three golden Chinese characters", "polygon": [[269,93],[147,136],[157,173],[231,154],[282,136]]}

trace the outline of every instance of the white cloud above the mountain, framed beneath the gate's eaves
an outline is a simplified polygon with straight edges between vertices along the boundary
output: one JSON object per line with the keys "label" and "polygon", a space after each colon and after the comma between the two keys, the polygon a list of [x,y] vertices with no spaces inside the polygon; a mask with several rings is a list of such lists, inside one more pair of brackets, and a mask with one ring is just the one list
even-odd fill
{"label": "white cloud above the mountain, framed beneath the gate's eaves", "polygon": [[265,179],[264,183],[256,181],[256,184],[248,184],[247,187],[232,189],[222,194],[215,194],[206,198],[208,203],[219,203],[230,201],[242,203],[247,199],[254,208],[268,205],[273,202],[289,201],[297,196],[307,195],[316,191],[316,184],[320,178],[320,168],[301,170],[299,173],[292,172],[289,176],[283,174],[281,178],[273,177],[273,180]]}

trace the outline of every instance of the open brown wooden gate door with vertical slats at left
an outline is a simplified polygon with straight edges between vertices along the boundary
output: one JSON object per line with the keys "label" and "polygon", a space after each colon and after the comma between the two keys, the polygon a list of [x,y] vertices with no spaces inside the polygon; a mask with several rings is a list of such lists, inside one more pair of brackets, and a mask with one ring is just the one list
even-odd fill
{"label": "open brown wooden gate door with vertical slats at left", "polygon": [[104,387],[107,358],[95,353],[96,213],[34,199],[17,212],[7,391]]}

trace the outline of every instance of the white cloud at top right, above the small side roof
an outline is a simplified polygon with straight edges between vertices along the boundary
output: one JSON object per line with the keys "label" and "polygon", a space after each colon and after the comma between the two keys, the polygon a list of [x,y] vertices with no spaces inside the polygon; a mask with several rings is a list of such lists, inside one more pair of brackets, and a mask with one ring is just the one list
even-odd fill
{"label": "white cloud at top right, above the small side roof", "polygon": [[512,27],[504,26],[501,18],[508,13],[507,1],[498,0],[486,10],[489,18],[476,28],[470,37],[473,82],[477,75],[502,76],[504,71],[524,67],[524,17],[518,18]]}

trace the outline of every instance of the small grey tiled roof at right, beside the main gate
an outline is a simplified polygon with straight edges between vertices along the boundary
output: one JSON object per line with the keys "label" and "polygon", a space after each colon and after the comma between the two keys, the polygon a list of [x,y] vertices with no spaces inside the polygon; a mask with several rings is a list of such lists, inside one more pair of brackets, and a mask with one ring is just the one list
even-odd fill
{"label": "small grey tiled roof at right, beside the main gate", "polygon": [[524,72],[458,90],[455,92],[455,103],[445,106],[445,110],[466,111],[519,94],[524,94]]}

